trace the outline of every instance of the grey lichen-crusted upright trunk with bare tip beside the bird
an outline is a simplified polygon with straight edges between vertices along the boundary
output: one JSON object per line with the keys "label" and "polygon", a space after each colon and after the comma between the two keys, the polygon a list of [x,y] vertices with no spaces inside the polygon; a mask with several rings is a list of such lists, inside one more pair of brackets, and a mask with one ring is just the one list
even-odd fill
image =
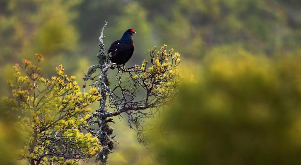
{"label": "grey lichen-crusted upright trunk with bare tip beside the bird", "polygon": [[[103,149],[100,152],[98,152],[98,155],[96,156],[96,161],[98,161],[99,164],[108,163],[108,154],[110,153],[110,150],[114,147],[114,143],[110,137],[114,129],[113,127],[107,124],[106,117],[104,117],[104,114],[107,113],[107,92],[110,91],[110,88],[108,87],[109,83],[107,78],[107,71],[111,66],[110,57],[105,53],[105,47],[103,42],[103,31],[106,26],[107,22],[101,29],[101,35],[99,37],[100,51],[96,56],[99,60],[99,64],[92,65],[88,69],[88,72],[85,74],[84,78],[85,84],[83,85],[83,88],[85,89],[87,80],[95,80],[95,82],[92,85],[97,86],[98,92],[101,94],[101,98],[99,99],[99,109],[96,110],[96,113],[91,114],[91,117],[88,120],[88,124],[91,124],[91,119],[97,118],[93,122],[98,124],[98,130],[88,129],[88,131],[91,132],[94,136],[98,137],[100,145],[103,146]],[[95,73],[97,69],[101,69],[101,73],[98,76],[98,79],[94,79],[92,78],[92,74]]]}

